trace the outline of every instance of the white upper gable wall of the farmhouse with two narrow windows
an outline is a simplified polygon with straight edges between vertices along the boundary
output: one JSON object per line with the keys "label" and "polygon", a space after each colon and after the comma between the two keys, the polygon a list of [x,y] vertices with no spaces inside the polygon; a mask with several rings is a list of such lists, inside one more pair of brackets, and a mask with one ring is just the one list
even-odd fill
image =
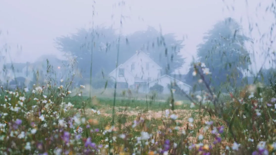
{"label": "white upper gable wall of the farmhouse with two narrow windows", "polygon": [[[134,64],[134,70],[131,69],[132,64]],[[126,69],[131,71],[135,77],[142,78],[144,80],[152,81],[161,76],[161,67],[150,59],[144,52],[132,56],[124,63],[124,66]]]}

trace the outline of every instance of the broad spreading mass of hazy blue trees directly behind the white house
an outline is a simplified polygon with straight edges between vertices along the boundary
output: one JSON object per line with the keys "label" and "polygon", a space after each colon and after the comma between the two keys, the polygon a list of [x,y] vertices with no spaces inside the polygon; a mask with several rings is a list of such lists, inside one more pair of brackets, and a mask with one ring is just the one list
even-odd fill
{"label": "broad spreading mass of hazy blue trees directly behind the white house", "polygon": [[[57,37],[57,48],[65,53],[78,56],[78,67],[83,77],[90,77],[91,51],[92,76],[102,70],[111,72],[116,66],[118,39],[120,38],[119,64],[124,63],[137,50],[143,50],[168,74],[182,67],[184,58],[179,51],[183,48],[182,40],[177,40],[174,34],[161,35],[156,29],[149,27],[146,31],[137,31],[128,36],[119,36],[112,28],[79,29],[76,34]],[[169,67],[168,67],[169,66]]]}

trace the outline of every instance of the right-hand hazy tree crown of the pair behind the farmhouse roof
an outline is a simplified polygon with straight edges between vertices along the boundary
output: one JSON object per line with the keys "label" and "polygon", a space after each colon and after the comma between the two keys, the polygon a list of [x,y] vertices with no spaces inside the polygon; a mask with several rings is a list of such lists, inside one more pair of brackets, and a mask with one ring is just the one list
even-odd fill
{"label": "right-hand hazy tree crown of the pair behind the farmhouse roof", "polygon": [[170,74],[184,64],[185,58],[179,52],[184,47],[183,40],[177,40],[174,33],[161,35],[155,28],[148,27],[146,31],[129,35],[128,40],[128,46],[123,46],[123,51],[131,52],[122,59],[123,62],[136,50],[142,50],[148,52],[150,58],[163,68],[162,74]]}

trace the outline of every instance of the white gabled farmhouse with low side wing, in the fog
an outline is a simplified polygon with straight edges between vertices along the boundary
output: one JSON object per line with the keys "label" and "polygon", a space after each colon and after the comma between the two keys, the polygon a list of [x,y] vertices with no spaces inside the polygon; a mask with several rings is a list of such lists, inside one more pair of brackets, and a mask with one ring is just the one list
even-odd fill
{"label": "white gabled farmhouse with low side wing, in the fog", "polygon": [[[168,75],[161,76],[161,70],[162,68],[146,53],[137,51],[135,55],[110,72],[109,76],[117,80],[117,88],[138,89],[139,92],[148,93],[155,83],[165,88],[171,83],[170,80],[176,80]],[[182,89],[188,90],[191,87],[179,80],[176,81]],[[168,91],[164,89],[164,93]]]}

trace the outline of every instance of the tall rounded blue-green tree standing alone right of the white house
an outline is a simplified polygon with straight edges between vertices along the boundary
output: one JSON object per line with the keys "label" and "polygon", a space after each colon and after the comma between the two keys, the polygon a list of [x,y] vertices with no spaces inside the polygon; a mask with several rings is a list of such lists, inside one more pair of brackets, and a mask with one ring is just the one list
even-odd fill
{"label": "tall rounded blue-green tree standing alone right of the white house", "polygon": [[[245,42],[249,38],[242,33],[241,26],[232,18],[226,18],[214,25],[203,37],[204,43],[197,46],[198,62],[203,62],[212,72],[206,76],[208,83],[216,88],[222,85],[235,87],[241,83],[242,70],[251,64]],[[191,67],[187,80],[192,78]]]}

